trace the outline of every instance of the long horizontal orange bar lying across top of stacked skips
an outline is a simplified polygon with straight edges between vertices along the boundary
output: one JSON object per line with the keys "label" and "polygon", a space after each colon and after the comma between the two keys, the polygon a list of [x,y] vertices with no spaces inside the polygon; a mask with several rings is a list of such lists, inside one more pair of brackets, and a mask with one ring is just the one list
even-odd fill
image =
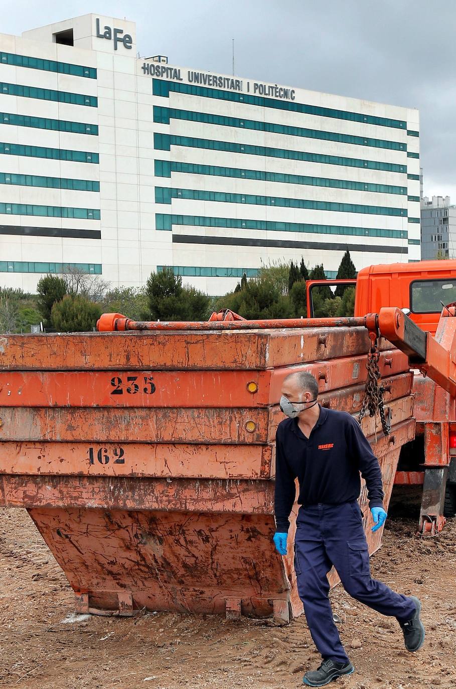
{"label": "long horizontal orange bar lying across top of stacked skips", "polygon": [[103,313],[96,323],[100,332],[113,330],[256,330],[265,328],[367,327],[375,328],[376,314],[358,318],[282,318],[225,321],[135,321],[119,313]]}

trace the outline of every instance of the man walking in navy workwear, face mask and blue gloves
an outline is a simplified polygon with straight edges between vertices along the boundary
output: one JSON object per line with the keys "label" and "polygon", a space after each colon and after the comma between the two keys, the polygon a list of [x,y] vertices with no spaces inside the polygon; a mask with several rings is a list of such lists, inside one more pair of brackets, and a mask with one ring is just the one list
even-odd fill
{"label": "man walking in navy workwear, face mask and blue gloves", "polygon": [[300,510],[294,560],[298,593],[312,639],[322,655],[318,670],[306,672],[302,680],[313,687],[355,670],[333,622],[327,579],[332,565],[353,598],[397,618],[407,650],[417,651],[424,643],[419,600],[394,593],[371,578],[357,498],[361,473],[375,524],[372,531],[377,531],[386,520],[377,458],[351,415],[324,409],[317,398],[318,382],[311,373],[291,373],[285,378],[280,409],[289,418],[279,424],[276,436],[274,535],[278,552],[285,555],[298,477]]}

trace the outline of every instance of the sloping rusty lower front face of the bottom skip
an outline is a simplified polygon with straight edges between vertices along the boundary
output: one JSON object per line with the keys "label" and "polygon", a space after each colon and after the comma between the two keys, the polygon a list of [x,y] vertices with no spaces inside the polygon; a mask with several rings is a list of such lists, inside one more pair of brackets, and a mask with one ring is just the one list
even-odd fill
{"label": "sloping rusty lower front face of the bottom skip", "polygon": [[75,508],[30,515],[92,609],[117,609],[126,589],[134,609],[224,615],[238,599],[243,614],[264,617],[273,599],[288,597],[271,516]]}

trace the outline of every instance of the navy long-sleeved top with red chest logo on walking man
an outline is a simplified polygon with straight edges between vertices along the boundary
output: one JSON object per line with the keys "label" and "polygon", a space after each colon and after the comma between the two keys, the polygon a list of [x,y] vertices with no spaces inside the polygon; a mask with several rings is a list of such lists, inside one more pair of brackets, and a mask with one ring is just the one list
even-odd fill
{"label": "navy long-sleeved top with red chest logo on walking man", "polygon": [[277,531],[289,528],[289,514],[299,481],[300,505],[338,505],[357,500],[360,472],[368,490],[369,506],[383,506],[382,473],[360,426],[346,411],[320,407],[320,417],[309,439],[298,419],[285,419],[276,435]]}

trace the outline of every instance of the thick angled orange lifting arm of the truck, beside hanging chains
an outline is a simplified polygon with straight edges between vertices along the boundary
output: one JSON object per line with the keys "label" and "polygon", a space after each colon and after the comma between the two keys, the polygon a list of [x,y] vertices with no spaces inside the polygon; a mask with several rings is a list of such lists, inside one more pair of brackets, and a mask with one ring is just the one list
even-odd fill
{"label": "thick angled orange lifting arm of the truck, beside hanging chains", "polygon": [[400,309],[380,309],[380,333],[408,355],[411,365],[456,396],[456,317],[455,308],[445,307],[435,338],[422,331]]}

